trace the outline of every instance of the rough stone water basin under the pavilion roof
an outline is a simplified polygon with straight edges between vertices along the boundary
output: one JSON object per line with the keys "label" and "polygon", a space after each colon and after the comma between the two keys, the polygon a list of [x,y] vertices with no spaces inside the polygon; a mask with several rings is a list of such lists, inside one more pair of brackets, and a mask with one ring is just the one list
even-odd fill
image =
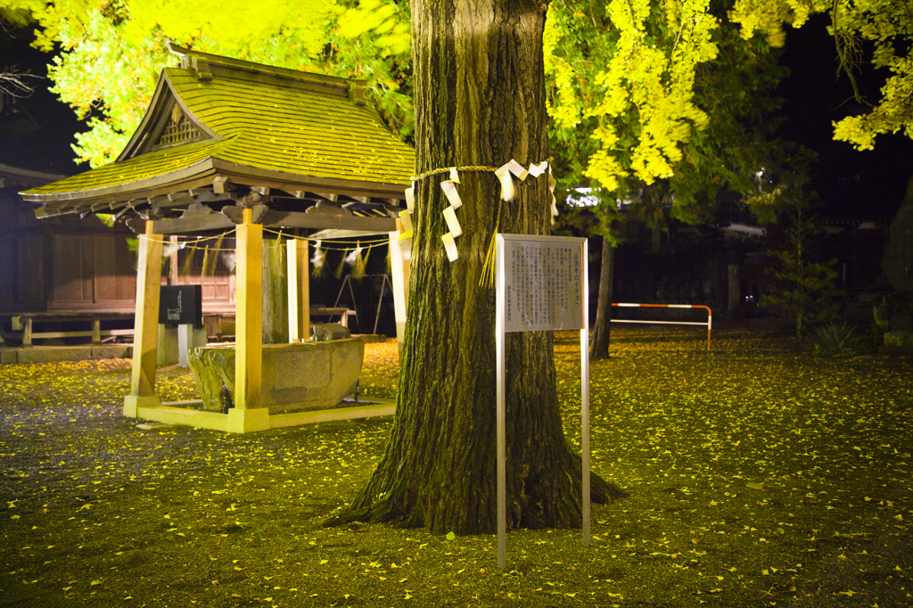
{"label": "rough stone water basin under the pavilion roof", "polygon": [[[364,342],[353,338],[264,344],[260,405],[270,414],[334,407],[355,391],[363,360]],[[188,362],[206,410],[223,411],[223,386],[234,404],[234,343],[195,348]]]}

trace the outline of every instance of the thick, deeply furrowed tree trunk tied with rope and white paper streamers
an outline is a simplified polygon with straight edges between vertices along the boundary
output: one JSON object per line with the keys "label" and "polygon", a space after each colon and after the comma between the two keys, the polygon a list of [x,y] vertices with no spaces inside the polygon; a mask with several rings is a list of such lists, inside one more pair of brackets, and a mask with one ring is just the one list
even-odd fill
{"label": "thick, deeply furrowed tree trunk tied with rope and white paper streamers", "polygon": [[[542,28],[530,0],[413,0],[416,173],[529,165],[548,158]],[[415,237],[393,429],[372,479],[337,521],[391,521],[438,532],[493,532],[496,520],[494,290],[479,287],[498,212],[493,173],[463,172],[459,259],[441,236],[446,198],[415,183]],[[517,182],[499,231],[549,231],[546,175]],[[509,528],[581,525],[581,459],[555,393],[551,332],[508,334]],[[593,500],[620,496],[593,478]]]}

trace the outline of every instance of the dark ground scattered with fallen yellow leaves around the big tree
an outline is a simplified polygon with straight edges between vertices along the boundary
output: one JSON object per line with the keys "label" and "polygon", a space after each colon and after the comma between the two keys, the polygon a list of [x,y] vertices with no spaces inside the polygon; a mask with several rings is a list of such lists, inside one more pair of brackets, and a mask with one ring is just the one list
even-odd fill
{"label": "dark ground scattered with fallen yellow leaves around the big tree", "polygon": [[[321,522],[390,419],[225,435],[121,416],[127,361],[0,367],[0,605],[913,605],[913,361],[801,354],[760,330],[615,329],[593,362],[593,470],[630,498],[579,532]],[[556,341],[580,440],[579,346]],[[394,341],[362,394],[390,397]],[[164,401],[194,398],[160,371]]]}

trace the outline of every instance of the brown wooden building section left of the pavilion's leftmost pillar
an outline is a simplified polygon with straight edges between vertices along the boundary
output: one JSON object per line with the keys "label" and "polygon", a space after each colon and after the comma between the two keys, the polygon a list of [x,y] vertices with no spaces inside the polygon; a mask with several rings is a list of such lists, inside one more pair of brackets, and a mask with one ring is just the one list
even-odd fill
{"label": "brown wooden building section left of the pavilion's leftmost pillar", "polygon": [[59,179],[0,164],[0,342],[131,333],[134,235],[95,217],[38,220],[18,191]]}

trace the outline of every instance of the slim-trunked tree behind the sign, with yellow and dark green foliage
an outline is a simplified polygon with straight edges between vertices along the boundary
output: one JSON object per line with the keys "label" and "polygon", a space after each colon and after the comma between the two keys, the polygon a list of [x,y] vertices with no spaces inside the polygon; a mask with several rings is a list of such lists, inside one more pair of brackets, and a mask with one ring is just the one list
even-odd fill
{"label": "slim-trunked tree behind the sign, with yellow and dark green foliage", "polygon": [[[572,198],[587,184],[593,204],[592,215],[560,225],[580,229],[578,219],[588,217],[586,228],[603,236],[592,357],[608,356],[613,226],[632,218],[708,221],[719,191],[753,193],[756,174],[781,155],[772,118],[781,104],[772,92],[785,72],[778,53],[760,37],[740,38],[727,16],[731,3],[686,6],[681,15],[664,6],[632,5],[636,24],[612,3],[582,10],[559,0],[550,8],[546,73],[559,183]],[[641,32],[637,44],[625,27]],[[628,72],[606,69],[621,60],[618,45]],[[638,68],[635,52],[653,68]]]}

